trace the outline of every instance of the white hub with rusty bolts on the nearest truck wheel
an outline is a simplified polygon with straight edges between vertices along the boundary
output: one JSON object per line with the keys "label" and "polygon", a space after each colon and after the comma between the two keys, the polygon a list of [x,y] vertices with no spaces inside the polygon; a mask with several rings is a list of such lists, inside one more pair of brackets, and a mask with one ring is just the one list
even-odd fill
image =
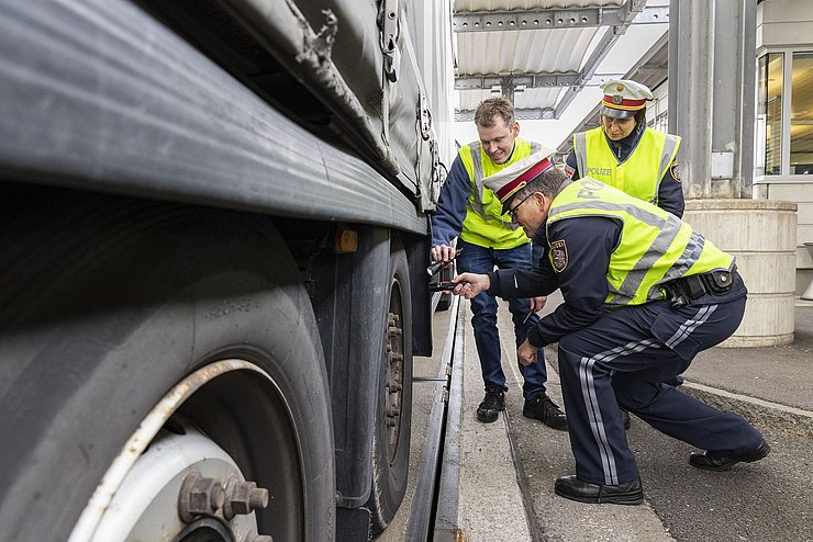
{"label": "white hub with rusty bolts on the nearest truck wheel", "polygon": [[[226,368],[221,366],[220,370]],[[208,368],[207,371],[218,369]],[[193,375],[181,387],[197,387]],[[146,428],[162,417],[162,409],[186,395],[175,388],[147,417]],[[144,442],[142,428],[129,445]],[[149,445],[138,454],[123,453],[113,462],[71,533],[70,541],[119,540],[244,540],[257,533],[255,508],[268,503],[268,490],[246,482],[234,459],[208,436],[180,416],[165,422]],[[197,485],[197,487],[196,487]],[[243,495],[240,495],[243,492]],[[256,507],[249,501],[253,494]],[[209,510],[193,499],[209,498]],[[215,503],[215,499],[222,499]],[[225,510],[211,510],[216,504]],[[241,513],[234,513],[235,506]],[[205,507],[204,507],[205,508]],[[200,513],[192,513],[192,510]],[[189,516],[189,517],[187,517]],[[260,532],[261,529],[260,529]]]}

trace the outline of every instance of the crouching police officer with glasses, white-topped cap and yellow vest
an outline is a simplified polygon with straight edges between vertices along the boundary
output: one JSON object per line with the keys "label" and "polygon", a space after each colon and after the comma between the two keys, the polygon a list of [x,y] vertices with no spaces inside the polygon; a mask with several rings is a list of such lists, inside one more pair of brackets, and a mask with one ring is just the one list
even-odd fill
{"label": "crouching police officer with glasses, white-topped cap and yellow vest", "polygon": [[511,298],[561,290],[565,303],[519,348],[521,362],[534,363],[539,348],[558,342],[576,460],[576,474],[557,478],[558,495],[643,501],[619,404],[702,449],[689,456],[698,468],[726,471],[768,455],[745,419],[664,384],[739,325],[747,291],[731,255],[655,205],[591,178],[571,181],[545,154],[485,183],[528,236],[547,242],[547,258],[531,271],[464,273],[455,293]]}

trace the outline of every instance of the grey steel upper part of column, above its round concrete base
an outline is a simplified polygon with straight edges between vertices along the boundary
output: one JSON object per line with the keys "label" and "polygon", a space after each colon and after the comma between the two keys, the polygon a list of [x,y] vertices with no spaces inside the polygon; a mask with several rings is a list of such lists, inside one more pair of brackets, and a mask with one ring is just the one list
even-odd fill
{"label": "grey steel upper part of column, above its round concrete base", "polygon": [[669,132],[687,199],[751,197],[756,0],[670,0]]}

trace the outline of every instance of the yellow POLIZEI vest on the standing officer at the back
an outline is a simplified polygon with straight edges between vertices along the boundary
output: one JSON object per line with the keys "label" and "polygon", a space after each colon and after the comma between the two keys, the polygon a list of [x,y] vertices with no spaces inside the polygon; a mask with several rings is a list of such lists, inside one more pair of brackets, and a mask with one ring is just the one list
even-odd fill
{"label": "yellow POLIZEI vest on the standing officer at the back", "polygon": [[592,177],[655,204],[658,202],[660,181],[678,155],[679,147],[680,137],[645,128],[626,160],[619,162],[601,126],[573,135],[576,166],[581,177]]}

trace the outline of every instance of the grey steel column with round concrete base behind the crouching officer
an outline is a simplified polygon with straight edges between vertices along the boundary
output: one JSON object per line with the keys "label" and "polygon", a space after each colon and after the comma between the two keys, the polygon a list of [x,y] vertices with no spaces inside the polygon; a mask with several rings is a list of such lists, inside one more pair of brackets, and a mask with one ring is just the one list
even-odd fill
{"label": "grey steel column with round concrete base behind the crouching officer", "polygon": [[795,204],[751,194],[756,10],[756,0],[669,2],[669,132],[683,137],[684,218],[737,257],[749,290],[728,346],[787,343],[794,329]]}

